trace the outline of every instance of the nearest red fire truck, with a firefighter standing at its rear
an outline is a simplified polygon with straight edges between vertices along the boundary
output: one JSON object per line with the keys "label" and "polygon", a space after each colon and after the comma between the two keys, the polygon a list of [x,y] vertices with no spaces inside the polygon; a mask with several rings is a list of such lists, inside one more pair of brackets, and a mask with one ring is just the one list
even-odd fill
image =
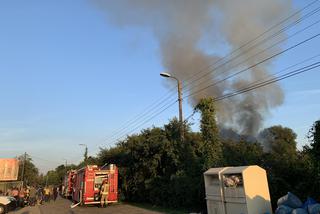
{"label": "nearest red fire truck, with a firefighter standing at its rear", "polygon": [[103,180],[108,178],[108,203],[118,201],[118,168],[114,164],[107,167],[88,165],[77,170],[73,180],[72,199],[80,204],[99,204],[100,188]]}

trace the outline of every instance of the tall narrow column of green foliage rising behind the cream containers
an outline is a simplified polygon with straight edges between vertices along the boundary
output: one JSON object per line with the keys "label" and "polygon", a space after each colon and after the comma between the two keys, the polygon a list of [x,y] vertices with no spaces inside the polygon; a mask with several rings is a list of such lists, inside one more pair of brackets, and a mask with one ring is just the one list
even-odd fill
{"label": "tall narrow column of green foliage rising behind the cream containers", "polygon": [[199,149],[203,158],[203,169],[221,166],[222,145],[219,139],[213,98],[200,100],[195,110],[201,112],[200,130],[202,146]]}

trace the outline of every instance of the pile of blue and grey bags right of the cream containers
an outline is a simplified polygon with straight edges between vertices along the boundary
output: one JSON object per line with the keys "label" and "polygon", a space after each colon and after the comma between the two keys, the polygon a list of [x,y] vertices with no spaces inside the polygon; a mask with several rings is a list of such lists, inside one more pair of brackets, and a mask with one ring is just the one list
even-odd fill
{"label": "pile of blue and grey bags right of the cream containers", "polygon": [[320,203],[312,198],[308,198],[304,203],[288,192],[287,195],[278,200],[278,208],[275,214],[320,214]]}

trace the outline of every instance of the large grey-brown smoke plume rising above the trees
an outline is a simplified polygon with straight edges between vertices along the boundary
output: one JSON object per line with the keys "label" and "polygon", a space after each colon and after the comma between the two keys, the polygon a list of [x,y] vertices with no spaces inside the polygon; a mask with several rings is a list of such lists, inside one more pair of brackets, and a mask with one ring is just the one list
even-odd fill
{"label": "large grey-brown smoke plume rising above the trees", "polygon": [[[168,72],[184,80],[185,84],[203,68],[260,35],[292,10],[292,0],[91,1],[105,12],[109,21],[119,27],[138,26],[151,30],[159,42],[163,66]],[[285,36],[280,34],[277,39]],[[269,49],[250,58],[240,67],[237,66],[269,45],[270,43],[258,46],[252,51],[241,49],[241,57],[221,66],[196,83],[187,85],[185,91],[187,94],[197,92],[279,50]],[[271,68],[272,62],[261,64],[236,78],[192,95],[189,102],[195,105],[203,97],[219,97],[247,87],[252,82],[270,77]],[[204,73],[207,72],[208,70]],[[240,134],[255,136],[262,127],[263,120],[269,115],[270,108],[279,106],[282,102],[283,92],[279,85],[259,88],[217,102],[218,122],[238,130]]]}

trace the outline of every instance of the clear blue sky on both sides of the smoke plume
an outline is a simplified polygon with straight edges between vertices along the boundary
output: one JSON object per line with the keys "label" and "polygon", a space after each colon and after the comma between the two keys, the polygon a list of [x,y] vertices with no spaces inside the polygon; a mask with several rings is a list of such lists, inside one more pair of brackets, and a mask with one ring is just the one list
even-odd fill
{"label": "clear blue sky on both sides of the smoke plume", "polygon": [[[304,2],[295,1],[296,8]],[[316,39],[288,53],[274,69],[319,53],[319,45]],[[27,152],[46,171],[64,159],[78,163],[80,143],[90,154],[110,146],[115,130],[168,92],[159,76],[163,70],[148,29],[118,28],[90,1],[0,1],[0,157]],[[314,70],[280,82],[285,102],[265,126],[288,126],[298,133],[299,147],[304,145],[320,118],[319,80]],[[190,112],[185,101],[184,113]],[[173,106],[144,127],[176,115]]]}

